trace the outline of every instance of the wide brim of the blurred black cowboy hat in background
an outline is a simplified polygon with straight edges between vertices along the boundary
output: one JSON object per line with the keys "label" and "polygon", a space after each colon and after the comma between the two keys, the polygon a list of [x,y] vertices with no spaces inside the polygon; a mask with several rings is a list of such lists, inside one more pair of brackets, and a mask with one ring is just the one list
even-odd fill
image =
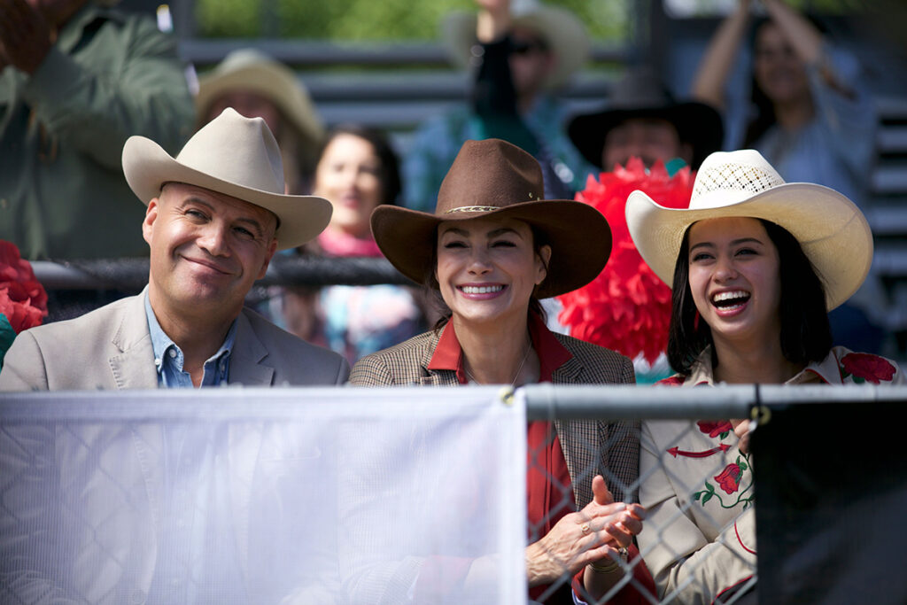
{"label": "wide brim of the blurred black cowboy hat in background", "polygon": [[571,120],[567,133],[586,161],[602,170],[610,171],[613,166],[601,165],[605,137],[620,122],[634,118],[659,118],[672,123],[678,130],[680,141],[693,146],[693,160],[690,165],[694,170],[709,153],[721,149],[725,136],[721,114],[701,102],[678,102],[639,108],[616,107],[584,113]]}

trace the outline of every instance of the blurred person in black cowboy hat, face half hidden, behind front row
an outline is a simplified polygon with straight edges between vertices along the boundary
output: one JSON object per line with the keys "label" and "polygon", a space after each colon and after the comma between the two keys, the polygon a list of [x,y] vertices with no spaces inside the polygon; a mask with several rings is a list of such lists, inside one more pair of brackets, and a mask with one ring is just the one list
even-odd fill
{"label": "blurred person in black cowboy hat, face half hidden, behind front row", "polygon": [[586,160],[610,171],[637,156],[651,166],[679,158],[696,169],[721,149],[720,114],[702,102],[678,102],[646,67],[627,73],[599,112],[574,117],[571,141]]}

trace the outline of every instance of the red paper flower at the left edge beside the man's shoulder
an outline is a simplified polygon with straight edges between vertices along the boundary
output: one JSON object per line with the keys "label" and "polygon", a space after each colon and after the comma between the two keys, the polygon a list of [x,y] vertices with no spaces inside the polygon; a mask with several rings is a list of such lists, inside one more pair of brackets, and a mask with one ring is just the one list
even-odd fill
{"label": "red paper flower at the left edge beside the man's shoulder", "polygon": [[0,240],[0,313],[18,334],[47,315],[47,292],[14,244]]}

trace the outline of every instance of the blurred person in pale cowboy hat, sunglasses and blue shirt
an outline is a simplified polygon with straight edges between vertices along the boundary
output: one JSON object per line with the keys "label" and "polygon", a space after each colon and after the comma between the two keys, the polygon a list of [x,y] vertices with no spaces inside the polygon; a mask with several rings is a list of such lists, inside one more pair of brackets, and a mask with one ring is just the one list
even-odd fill
{"label": "blurred person in pale cowboy hat, sunglasses and blue shirt", "polygon": [[467,140],[500,138],[532,153],[545,194],[572,198],[591,166],[564,130],[567,111],[553,93],[586,61],[580,19],[538,0],[476,0],[478,13],[454,12],[442,38],[456,63],[475,69],[468,107],[426,120],[404,158],[404,205],[431,211],[444,174]]}

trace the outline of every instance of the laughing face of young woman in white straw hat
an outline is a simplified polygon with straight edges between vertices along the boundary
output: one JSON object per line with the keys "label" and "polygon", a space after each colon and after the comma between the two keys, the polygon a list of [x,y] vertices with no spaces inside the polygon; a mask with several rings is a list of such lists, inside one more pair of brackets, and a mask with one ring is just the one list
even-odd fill
{"label": "laughing face of young woman in white straw hat", "polygon": [[715,340],[781,334],[778,252],[757,219],[700,220],[689,228],[689,288]]}

